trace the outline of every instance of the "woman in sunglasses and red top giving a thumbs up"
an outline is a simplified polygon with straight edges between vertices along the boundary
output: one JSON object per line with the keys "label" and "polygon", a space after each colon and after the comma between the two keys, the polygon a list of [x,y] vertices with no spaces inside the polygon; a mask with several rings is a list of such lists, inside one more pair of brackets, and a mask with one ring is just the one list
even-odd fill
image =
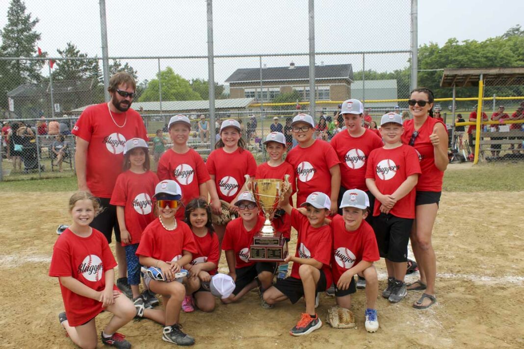
{"label": "woman in sunglasses and red top giving a thumbs up", "polygon": [[419,153],[422,170],[416,187],[415,221],[410,237],[420,280],[408,285],[408,290],[425,290],[413,303],[413,308],[417,309],[429,308],[436,302],[436,258],[431,232],[439,209],[442,177],[449,163],[446,127],[433,118],[433,101],[433,92],[428,88],[411,91],[408,104],[413,118],[404,122],[402,134],[402,143],[411,145]]}

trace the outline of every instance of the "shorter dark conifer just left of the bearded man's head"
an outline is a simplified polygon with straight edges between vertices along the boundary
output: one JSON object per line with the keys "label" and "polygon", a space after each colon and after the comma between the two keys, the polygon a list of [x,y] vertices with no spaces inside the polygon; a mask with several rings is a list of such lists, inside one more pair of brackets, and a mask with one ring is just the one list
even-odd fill
{"label": "shorter dark conifer just left of the bearded man's head", "polygon": [[[87,53],[80,53],[77,46],[71,42],[67,43],[64,50],[57,49],[63,58],[87,58]],[[100,67],[98,60],[63,60],[56,63],[53,71],[53,80],[81,80],[95,78],[98,80]]]}

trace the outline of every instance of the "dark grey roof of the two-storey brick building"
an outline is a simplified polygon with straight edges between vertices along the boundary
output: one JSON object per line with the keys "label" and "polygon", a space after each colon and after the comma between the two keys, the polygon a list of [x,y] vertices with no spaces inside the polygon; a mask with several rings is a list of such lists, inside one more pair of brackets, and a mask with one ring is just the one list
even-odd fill
{"label": "dark grey roof of the two-storey brick building", "polygon": [[[315,80],[322,79],[347,79],[353,80],[353,68],[351,64],[334,64],[334,65],[315,65]],[[289,66],[270,67],[262,69],[263,81],[292,81],[292,80],[309,80],[309,66],[295,66],[289,69]],[[259,82],[259,68],[242,68],[237,69],[230,77],[226,79],[227,83],[245,83]]]}

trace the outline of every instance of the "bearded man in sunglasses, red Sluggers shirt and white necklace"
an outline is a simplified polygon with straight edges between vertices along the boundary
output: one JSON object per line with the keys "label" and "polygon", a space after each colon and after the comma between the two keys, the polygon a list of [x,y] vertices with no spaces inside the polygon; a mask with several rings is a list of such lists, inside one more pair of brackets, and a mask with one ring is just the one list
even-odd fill
{"label": "bearded man in sunglasses, red Sluggers shirt and white necklace", "polygon": [[91,227],[100,230],[111,243],[113,230],[118,262],[117,287],[132,296],[126,277],[126,255],[120,241],[116,207],[110,205],[116,177],[122,172],[126,140],[141,138],[148,141],[146,127],[140,114],[131,109],[136,83],[130,74],[118,72],[111,76],[107,90],[108,103],[89,106],[80,115],[71,132],[77,136],[74,163],[79,190],[92,193],[103,208]]}

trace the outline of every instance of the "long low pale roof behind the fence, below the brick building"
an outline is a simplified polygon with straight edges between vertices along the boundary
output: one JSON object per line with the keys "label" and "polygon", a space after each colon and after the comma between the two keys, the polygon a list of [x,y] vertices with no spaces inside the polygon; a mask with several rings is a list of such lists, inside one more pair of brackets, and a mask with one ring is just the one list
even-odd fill
{"label": "long low pale roof behind the fence, below the brick building", "polygon": [[[215,109],[239,109],[246,108],[252,104],[255,98],[230,98],[215,99]],[[82,112],[88,106],[71,110],[72,112]],[[144,111],[159,111],[160,102],[134,102],[133,109],[140,107]],[[167,100],[162,101],[162,111],[197,111],[209,110],[209,100]]]}

